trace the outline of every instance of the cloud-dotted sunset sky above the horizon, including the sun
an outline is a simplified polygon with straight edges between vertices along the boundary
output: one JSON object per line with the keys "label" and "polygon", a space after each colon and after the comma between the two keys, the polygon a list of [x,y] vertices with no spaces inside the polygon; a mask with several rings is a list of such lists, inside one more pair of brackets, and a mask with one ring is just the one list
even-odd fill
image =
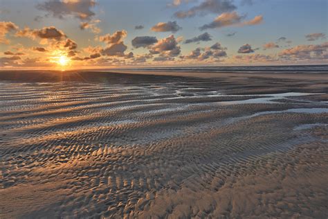
{"label": "cloud-dotted sunset sky above the horizon, including the sun", "polygon": [[0,69],[328,64],[327,0],[0,0]]}

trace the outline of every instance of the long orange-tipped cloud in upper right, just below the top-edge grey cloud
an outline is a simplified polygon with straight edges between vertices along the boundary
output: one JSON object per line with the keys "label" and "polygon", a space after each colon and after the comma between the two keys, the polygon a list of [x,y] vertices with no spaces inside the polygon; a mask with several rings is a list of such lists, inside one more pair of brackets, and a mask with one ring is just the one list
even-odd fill
{"label": "long orange-tipped cloud in upper right, just below the top-edge grey cloud", "polygon": [[210,22],[210,24],[205,24],[201,26],[200,30],[206,30],[209,28],[222,28],[225,26],[246,26],[246,25],[256,25],[260,24],[263,21],[262,15],[256,16],[249,21],[242,21],[245,19],[245,15],[238,15],[237,12],[226,12],[219,15],[215,18],[214,21]]}

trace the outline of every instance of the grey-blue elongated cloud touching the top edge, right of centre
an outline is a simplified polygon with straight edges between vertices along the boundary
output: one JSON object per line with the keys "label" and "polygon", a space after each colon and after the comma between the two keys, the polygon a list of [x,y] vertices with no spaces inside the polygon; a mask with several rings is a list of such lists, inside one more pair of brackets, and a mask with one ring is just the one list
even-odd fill
{"label": "grey-blue elongated cloud touching the top edge, right of centre", "polygon": [[174,14],[174,17],[183,19],[186,17],[194,17],[195,15],[207,15],[208,13],[221,14],[230,12],[237,7],[232,0],[205,0],[198,6],[190,8],[190,10],[180,10]]}

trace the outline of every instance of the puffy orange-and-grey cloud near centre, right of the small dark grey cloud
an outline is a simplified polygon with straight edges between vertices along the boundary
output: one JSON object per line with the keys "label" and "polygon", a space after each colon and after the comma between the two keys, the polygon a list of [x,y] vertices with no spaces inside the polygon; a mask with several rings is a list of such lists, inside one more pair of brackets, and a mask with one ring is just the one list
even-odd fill
{"label": "puffy orange-and-grey cloud near centre, right of the small dark grey cloud", "polygon": [[181,49],[178,42],[176,42],[174,35],[170,35],[170,37],[158,40],[158,42],[152,46],[150,53],[161,53],[161,55],[176,56],[181,53]]}

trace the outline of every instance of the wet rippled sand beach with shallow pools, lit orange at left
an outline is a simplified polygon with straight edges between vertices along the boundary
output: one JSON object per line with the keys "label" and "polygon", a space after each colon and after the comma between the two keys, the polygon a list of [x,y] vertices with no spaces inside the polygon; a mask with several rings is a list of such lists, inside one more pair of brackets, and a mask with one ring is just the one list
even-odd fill
{"label": "wet rippled sand beach with shallow pools, lit orange at left", "polygon": [[211,77],[0,72],[0,218],[327,218],[325,74]]}

